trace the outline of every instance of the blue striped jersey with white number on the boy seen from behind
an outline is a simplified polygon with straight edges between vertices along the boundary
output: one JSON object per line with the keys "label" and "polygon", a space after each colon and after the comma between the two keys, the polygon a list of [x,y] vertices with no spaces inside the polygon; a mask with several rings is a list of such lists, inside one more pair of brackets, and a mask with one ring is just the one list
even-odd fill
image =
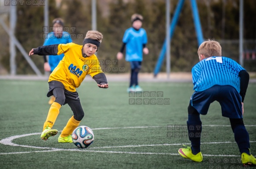
{"label": "blue striped jersey with white number on the boy seen from behind", "polygon": [[194,90],[204,91],[214,85],[231,85],[240,92],[240,77],[245,70],[234,60],[227,57],[212,56],[201,60],[192,68]]}

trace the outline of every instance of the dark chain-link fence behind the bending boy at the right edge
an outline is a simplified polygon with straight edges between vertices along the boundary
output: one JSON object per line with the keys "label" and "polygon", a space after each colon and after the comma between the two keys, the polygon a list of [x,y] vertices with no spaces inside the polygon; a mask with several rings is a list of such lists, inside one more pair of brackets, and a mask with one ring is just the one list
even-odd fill
{"label": "dark chain-link fence behind the bending boy at the right edge", "polygon": [[[220,40],[222,56],[239,63],[239,40]],[[249,72],[256,72],[256,40],[244,40],[243,67]]]}

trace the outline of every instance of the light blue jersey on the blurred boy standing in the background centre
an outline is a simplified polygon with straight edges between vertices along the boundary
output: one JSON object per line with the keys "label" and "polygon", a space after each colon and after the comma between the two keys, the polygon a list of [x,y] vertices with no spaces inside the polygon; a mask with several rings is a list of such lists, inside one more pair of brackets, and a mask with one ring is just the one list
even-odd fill
{"label": "light blue jersey on the blurred boy standing in the background centre", "polygon": [[123,35],[123,42],[126,43],[126,61],[142,61],[143,44],[148,43],[147,33],[144,28],[135,30],[126,29]]}

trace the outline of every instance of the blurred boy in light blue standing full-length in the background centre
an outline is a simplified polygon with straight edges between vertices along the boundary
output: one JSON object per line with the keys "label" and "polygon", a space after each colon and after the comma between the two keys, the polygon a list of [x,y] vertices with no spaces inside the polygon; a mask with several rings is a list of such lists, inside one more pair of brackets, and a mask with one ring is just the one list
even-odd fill
{"label": "blurred boy in light blue standing full-length in the background centre", "polygon": [[133,14],[131,21],[132,28],[126,29],[123,35],[123,46],[120,52],[117,53],[117,59],[122,59],[126,46],[125,60],[130,62],[131,66],[130,85],[127,92],[142,91],[142,88],[138,85],[138,74],[141,70],[143,53],[148,54],[148,48],[146,47],[148,43],[147,33],[144,28],[141,28],[143,17],[140,14]]}

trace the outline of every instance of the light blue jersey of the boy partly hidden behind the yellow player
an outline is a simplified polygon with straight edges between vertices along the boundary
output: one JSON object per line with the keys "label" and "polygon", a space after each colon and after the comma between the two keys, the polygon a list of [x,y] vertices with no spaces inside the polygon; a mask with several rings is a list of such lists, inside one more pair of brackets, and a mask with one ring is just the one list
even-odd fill
{"label": "light blue jersey of the boy partly hidden behind the yellow player", "polygon": [[[72,42],[69,32],[63,32],[61,38],[54,36],[54,32],[50,32],[45,39],[43,46],[54,44],[66,44]],[[58,63],[62,60],[64,54],[58,56],[49,55],[48,63],[50,65],[50,71],[53,71],[57,67]]]}

